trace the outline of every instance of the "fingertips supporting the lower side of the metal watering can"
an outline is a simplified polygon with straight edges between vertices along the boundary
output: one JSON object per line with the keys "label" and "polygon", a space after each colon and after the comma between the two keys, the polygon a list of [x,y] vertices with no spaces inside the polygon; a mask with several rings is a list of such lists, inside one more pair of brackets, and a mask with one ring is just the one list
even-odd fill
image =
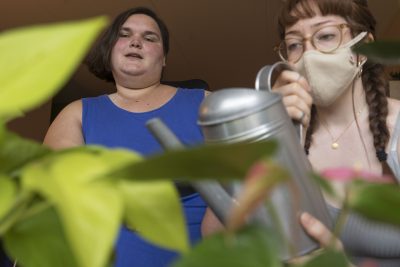
{"label": "fingertips supporting the lower side of the metal watering can", "polygon": [[319,242],[322,247],[328,247],[333,244],[336,249],[343,249],[342,243],[332,234],[332,232],[309,213],[302,213],[300,215],[300,222],[305,231]]}

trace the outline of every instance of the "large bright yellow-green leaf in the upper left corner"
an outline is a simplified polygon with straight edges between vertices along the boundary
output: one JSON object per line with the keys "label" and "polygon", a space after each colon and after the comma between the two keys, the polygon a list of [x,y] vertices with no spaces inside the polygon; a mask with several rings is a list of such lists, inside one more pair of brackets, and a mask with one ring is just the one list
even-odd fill
{"label": "large bright yellow-green leaf in the upper left corner", "polygon": [[106,23],[96,17],[0,34],[0,117],[15,117],[61,89]]}

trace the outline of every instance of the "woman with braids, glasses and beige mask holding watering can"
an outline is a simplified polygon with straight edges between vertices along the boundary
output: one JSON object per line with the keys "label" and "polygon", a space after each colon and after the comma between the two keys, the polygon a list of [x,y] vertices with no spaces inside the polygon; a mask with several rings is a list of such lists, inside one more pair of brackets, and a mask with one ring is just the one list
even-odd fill
{"label": "woman with braids, glasses and beige mask holding watering can", "polygon": [[[351,51],[375,38],[367,1],[288,0],[279,33],[277,50],[294,71],[282,72],[274,90],[282,94],[289,115],[303,124],[314,170],[358,168],[392,175],[397,186],[400,102],[387,96],[383,67]],[[334,185],[344,192],[343,184]],[[339,203],[328,204],[336,218]],[[306,230],[323,244],[330,235],[315,221]],[[355,263],[374,258],[379,266],[400,266],[398,228],[350,214],[341,240]]]}

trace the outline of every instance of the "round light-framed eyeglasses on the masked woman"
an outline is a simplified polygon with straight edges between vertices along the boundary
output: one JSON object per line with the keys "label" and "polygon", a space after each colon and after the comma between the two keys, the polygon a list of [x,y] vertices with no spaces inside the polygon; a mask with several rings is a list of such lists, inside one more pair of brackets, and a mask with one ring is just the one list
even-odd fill
{"label": "round light-framed eyeglasses on the masked woman", "polygon": [[343,29],[349,27],[348,24],[329,25],[319,28],[311,37],[288,37],[285,38],[274,50],[284,61],[297,62],[304,53],[304,43],[311,41],[312,46],[322,53],[332,53],[342,43]]}

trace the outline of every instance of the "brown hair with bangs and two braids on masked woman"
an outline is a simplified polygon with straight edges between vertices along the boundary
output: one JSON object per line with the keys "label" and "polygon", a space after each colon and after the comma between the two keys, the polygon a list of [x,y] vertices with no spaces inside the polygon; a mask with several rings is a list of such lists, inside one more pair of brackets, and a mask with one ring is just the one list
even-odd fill
{"label": "brown hair with bangs and two braids on masked woman", "polygon": [[[311,18],[317,7],[321,15],[337,15],[343,17],[350,25],[353,35],[362,31],[376,37],[376,21],[368,9],[366,0],[286,0],[278,21],[278,31],[283,40],[286,27],[294,25],[299,19]],[[368,60],[363,66],[362,83],[369,111],[369,126],[373,135],[376,155],[383,162],[383,170],[387,173],[385,147],[390,134],[386,124],[388,115],[388,82],[384,68]],[[312,134],[316,123],[316,109],[312,108],[310,126],[307,129],[304,149],[308,154],[312,144]]]}

